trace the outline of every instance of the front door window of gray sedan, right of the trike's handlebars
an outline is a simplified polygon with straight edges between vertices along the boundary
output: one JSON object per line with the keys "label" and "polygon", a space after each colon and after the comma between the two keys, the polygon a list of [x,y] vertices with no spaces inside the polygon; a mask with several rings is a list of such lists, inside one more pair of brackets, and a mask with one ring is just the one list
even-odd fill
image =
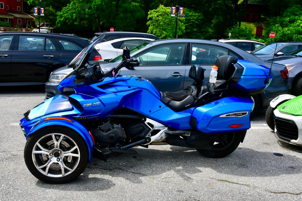
{"label": "front door window of gray sedan, right of the trike's handlebars", "polygon": [[136,55],[142,65],[181,65],[184,59],[185,43],[164,44]]}

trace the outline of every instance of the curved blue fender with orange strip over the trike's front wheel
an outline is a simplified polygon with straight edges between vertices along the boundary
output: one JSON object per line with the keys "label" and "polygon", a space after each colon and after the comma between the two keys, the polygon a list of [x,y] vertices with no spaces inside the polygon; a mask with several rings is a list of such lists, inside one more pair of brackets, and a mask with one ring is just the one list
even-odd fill
{"label": "curved blue fender with orange strip over the trike's front wheel", "polygon": [[[61,119],[60,119],[61,118]],[[92,158],[92,151],[94,148],[94,140],[92,139],[92,136],[89,134],[89,131],[79,122],[69,119],[67,117],[51,117],[50,120],[48,118],[42,119],[38,124],[33,126],[31,131],[27,134],[27,137],[29,137],[31,134],[36,132],[39,129],[45,128],[46,126],[66,126],[68,128],[71,128],[78,132],[82,138],[85,140],[88,152],[89,152],[89,162]]]}

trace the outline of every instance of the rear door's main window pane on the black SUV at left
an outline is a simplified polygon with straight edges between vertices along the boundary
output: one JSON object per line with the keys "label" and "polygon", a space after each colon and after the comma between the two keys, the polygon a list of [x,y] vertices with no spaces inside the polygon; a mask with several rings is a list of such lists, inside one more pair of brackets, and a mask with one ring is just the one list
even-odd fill
{"label": "rear door's main window pane on the black SUV at left", "polygon": [[44,37],[19,36],[18,50],[43,50]]}

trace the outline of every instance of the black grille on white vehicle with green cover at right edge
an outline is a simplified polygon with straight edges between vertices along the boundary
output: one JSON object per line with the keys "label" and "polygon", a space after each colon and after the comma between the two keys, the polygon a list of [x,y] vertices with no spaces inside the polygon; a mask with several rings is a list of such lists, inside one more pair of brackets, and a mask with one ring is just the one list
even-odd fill
{"label": "black grille on white vehicle with green cover at right edge", "polygon": [[291,121],[286,119],[280,119],[275,117],[275,126],[277,129],[277,135],[285,140],[297,140],[298,139],[298,127]]}

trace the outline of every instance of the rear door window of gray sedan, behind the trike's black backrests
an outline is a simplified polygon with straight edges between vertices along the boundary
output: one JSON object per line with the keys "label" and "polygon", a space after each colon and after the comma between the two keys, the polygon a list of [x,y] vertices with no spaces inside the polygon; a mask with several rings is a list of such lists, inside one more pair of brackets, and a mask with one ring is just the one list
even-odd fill
{"label": "rear door window of gray sedan, behind the trike's black backrests", "polygon": [[206,44],[192,44],[191,64],[214,65],[217,58],[229,55],[228,49]]}

